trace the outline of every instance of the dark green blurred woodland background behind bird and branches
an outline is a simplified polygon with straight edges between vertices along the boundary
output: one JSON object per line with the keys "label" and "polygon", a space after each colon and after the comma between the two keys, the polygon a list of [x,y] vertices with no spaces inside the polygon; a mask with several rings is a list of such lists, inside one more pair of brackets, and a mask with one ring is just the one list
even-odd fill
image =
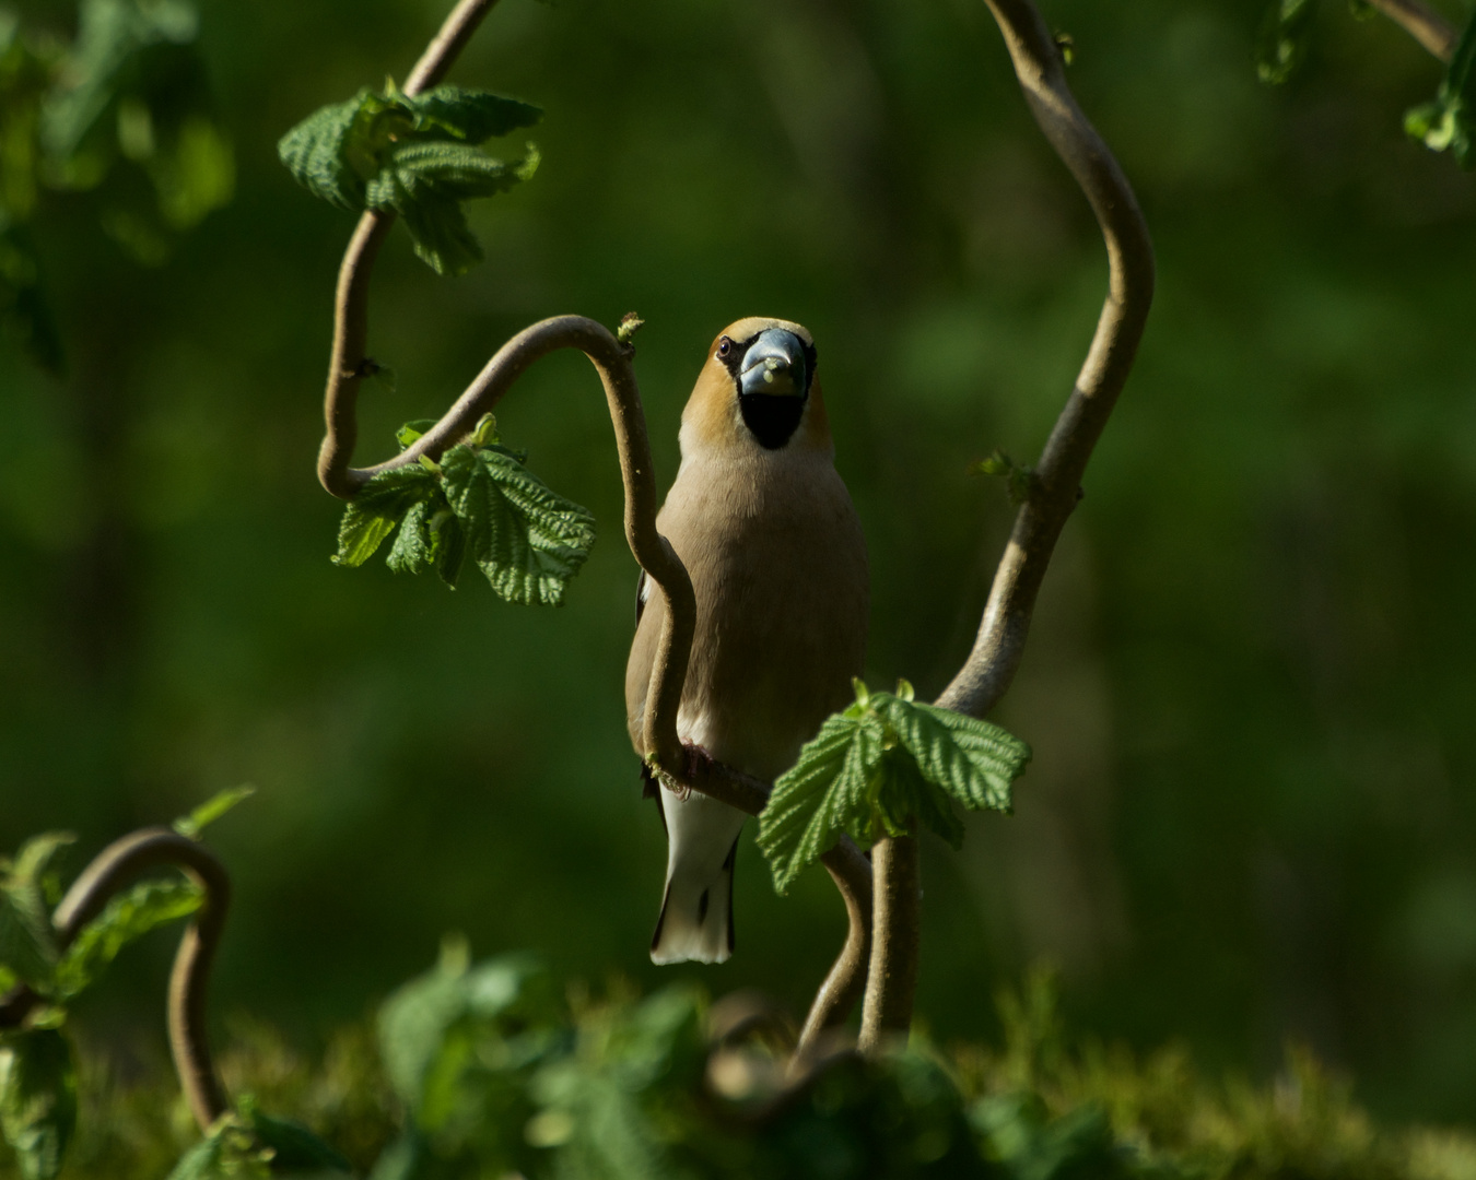
{"label": "dark green blurred woodland background behind bird and branches", "polygon": [[[1476,184],[1401,133],[1439,66],[1342,3],[1278,90],[1256,81],[1261,0],[1045,9],[1160,283],[998,712],[1036,751],[1017,814],[927,850],[920,1012],[990,1035],[993,991],[1048,956],[1104,1037],[1258,1075],[1296,1037],[1380,1114],[1469,1118]],[[403,80],[444,10],[202,0],[235,201],[152,270],[84,199],[41,209],[69,376],[0,345],[0,848],[68,827],[80,867],[257,783],[211,835],[238,884],[215,1007],[304,1041],[449,929],[803,1010],[843,913],[819,872],[776,898],[751,830],[734,960],[646,962],[664,839],[624,733],[636,568],[583,358],[542,363],[499,414],[602,525],[565,608],[328,560],[339,506],[313,463],[353,218],[275,145]],[[75,21],[69,0],[19,12]],[[1011,518],[967,468],[1038,453],[1106,282],[984,7],[502,0],[452,80],[542,103],[543,167],[472,206],[487,263],[465,279],[393,236],[370,353],[397,382],[366,389],[360,459],[531,320],[638,310],[669,481],[713,335],[797,319],[871,546],[869,678],[937,692]],[[171,941],[89,1000],[96,1035],[162,1040]]]}

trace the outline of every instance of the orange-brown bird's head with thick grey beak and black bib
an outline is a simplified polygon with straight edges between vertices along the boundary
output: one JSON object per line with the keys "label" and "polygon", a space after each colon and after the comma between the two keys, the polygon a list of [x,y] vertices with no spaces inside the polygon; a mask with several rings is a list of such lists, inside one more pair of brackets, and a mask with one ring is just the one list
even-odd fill
{"label": "orange-brown bird's head with thick grey beak and black bib", "polygon": [[707,350],[682,413],[683,454],[689,444],[830,450],[809,330],[757,316],[728,324]]}

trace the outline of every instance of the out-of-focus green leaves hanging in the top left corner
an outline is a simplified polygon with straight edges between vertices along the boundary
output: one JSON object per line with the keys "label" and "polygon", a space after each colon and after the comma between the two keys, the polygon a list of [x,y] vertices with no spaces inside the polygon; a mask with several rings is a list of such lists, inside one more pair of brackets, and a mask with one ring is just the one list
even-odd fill
{"label": "out-of-focus green leaves hanging in the top left corner", "polygon": [[0,320],[61,372],[30,223],[46,192],[92,192],[103,230],[145,264],[224,205],[235,156],[184,0],[83,0],[71,44],[0,6]]}

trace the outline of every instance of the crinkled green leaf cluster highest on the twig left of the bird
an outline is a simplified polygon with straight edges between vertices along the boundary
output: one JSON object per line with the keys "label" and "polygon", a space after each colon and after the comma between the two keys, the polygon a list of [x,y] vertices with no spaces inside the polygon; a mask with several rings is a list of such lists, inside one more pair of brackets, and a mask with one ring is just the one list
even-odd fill
{"label": "crinkled green leaf cluster highest on the twig left of the bird", "polygon": [[481,90],[440,86],[412,97],[390,83],[384,94],[365,87],[313,112],[282,137],[277,155],[313,195],[341,209],[394,209],[437,274],[463,274],[483,255],[462,202],[506,192],[539,165],[533,146],[508,164],[481,145],[542,115]]}

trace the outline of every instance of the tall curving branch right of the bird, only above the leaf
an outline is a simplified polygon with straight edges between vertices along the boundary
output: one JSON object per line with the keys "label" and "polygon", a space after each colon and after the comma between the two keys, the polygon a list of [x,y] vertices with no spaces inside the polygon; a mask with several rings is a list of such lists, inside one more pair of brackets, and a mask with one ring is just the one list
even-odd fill
{"label": "tall curving branch right of the bird, only above the leaf", "polygon": [[945,708],[983,717],[1020,667],[1041,580],[1072,509],[1082,475],[1128,381],[1153,302],[1153,243],[1137,198],[1107,145],[1076,105],[1061,55],[1030,0],[986,0],[1004,32],[1036,122],[1082,187],[1107,243],[1108,286],[1076,388],[1035,468],[1029,500],[1015,516],[979,636],[967,662],[939,696]]}

